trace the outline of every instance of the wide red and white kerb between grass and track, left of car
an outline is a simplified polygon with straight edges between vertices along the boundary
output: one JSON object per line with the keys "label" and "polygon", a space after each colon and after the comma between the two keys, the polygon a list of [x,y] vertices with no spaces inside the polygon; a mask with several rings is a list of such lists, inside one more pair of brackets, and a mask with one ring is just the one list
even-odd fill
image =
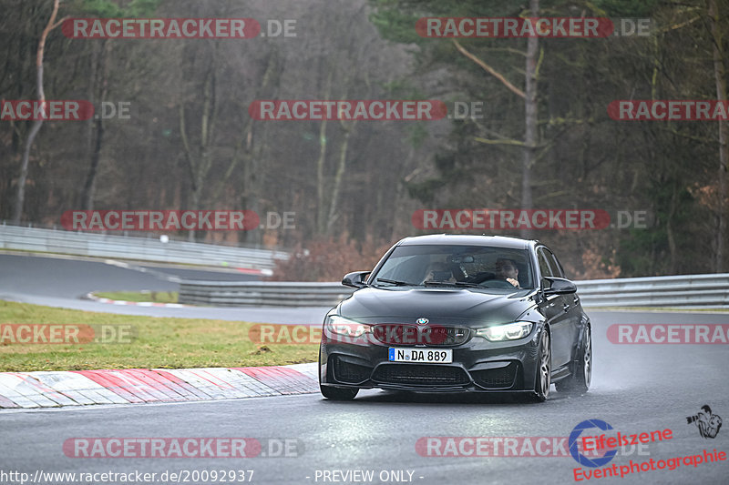
{"label": "wide red and white kerb between grass and track, left of car", "polygon": [[0,373],[0,409],[240,399],[319,391],[318,365]]}

